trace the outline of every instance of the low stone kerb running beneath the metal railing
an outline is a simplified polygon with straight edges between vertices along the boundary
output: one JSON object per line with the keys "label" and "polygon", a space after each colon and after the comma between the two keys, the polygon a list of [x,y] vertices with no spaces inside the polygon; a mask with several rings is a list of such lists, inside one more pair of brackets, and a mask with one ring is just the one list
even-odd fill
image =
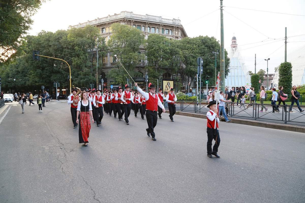
{"label": "low stone kerb running beneath the metal railing", "polygon": [[[169,114],[169,110],[166,110],[166,113]],[[176,111],[176,114],[181,115],[181,116],[207,119],[206,115],[203,115],[203,114],[187,113],[187,112],[181,112],[181,111]],[[220,121],[225,122],[224,118],[220,117],[219,119],[220,119]],[[290,125],[290,124],[274,124],[274,123],[267,123],[267,122],[261,122],[261,121],[239,119],[239,118],[230,118],[230,120],[231,120],[230,123],[235,123],[235,124],[244,124],[244,125],[251,124],[252,126],[258,126],[258,127],[263,127],[263,128],[273,128],[273,129],[279,129],[279,130],[288,130],[288,131],[296,131],[296,132],[305,133],[304,126]]]}

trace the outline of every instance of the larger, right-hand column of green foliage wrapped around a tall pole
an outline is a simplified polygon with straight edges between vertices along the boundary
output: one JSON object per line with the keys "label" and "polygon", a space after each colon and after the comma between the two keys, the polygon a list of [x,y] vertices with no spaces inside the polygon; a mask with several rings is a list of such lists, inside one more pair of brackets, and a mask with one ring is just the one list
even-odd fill
{"label": "larger, right-hand column of green foliage wrapped around a tall pole", "polygon": [[285,94],[291,94],[292,87],[292,65],[290,62],[283,62],[278,68],[278,86],[283,86]]}

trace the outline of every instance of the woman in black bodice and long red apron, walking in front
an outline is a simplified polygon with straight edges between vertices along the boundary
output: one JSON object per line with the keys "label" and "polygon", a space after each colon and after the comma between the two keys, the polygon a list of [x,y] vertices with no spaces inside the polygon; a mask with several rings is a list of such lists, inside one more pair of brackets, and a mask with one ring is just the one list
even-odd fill
{"label": "woman in black bodice and long red apron, walking in front", "polygon": [[88,94],[85,91],[81,93],[81,100],[78,102],[77,105],[77,118],[78,115],[80,115],[80,117],[76,120],[76,123],[80,123],[78,129],[79,143],[84,143],[84,146],[87,147],[89,143],[89,132],[91,129],[90,116],[92,118],[92,123],[94,122],[94,120],[92,116],[91,102],[89,102]]}

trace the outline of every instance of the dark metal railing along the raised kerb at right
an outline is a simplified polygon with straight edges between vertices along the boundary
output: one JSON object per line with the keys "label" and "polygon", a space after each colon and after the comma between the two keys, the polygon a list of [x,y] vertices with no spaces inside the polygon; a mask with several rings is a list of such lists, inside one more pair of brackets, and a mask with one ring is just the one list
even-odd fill
{"label": "dark metal railing along the raised kerb at right", "polygon": [[[289,111],[290,105],[271,105],[264,104],[261,105],[259,103],[254,103],[249,105],[249,103],[244,104],[244,108],[237,105],[237,103],[225,103],[226,109],[228,112],[228,117],[244,117],[244,118],[252,118],[254,120],[270,120],[270,121],[282,121],[285,124],[287,122],[295,122],[295,123],[305,123],[305,114],[300,112],[296,106],[292,107],[292,110],[295,113]],[[186,112],[194,112],[194,113],[207,113],[210,109],[207,108],[207,102],[197,102],[197,101],[186,101],[186,100],[178,100],[176,102],[176,110],[186,111]],[[248,106],[249,105],[249,106]],[[271,113],[272,106],[278,107],[280,112]],[[165,108],[168,108],[167,102],[164,104]],[[265,110],[265,108],[267,110]],[[260,112],[259,109],[263,108],[263,112]],[[296,114],[297,112],[297,114]],[[304,111],[305,112],[305,111]]]}

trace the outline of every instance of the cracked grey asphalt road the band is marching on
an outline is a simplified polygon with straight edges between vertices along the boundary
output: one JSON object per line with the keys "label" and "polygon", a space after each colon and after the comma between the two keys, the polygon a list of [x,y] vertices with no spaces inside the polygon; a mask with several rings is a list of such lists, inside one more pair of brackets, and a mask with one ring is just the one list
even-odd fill
{"label": "cracked grey asphalt road the band is marching on", "polygon": [[131,111],[129,126],[105,114],[84,147],[67,104],[7,104],[0,202],[305,202],[303,133],[221,122],[210,159],[206,120],[162,114],[155,142]]}

